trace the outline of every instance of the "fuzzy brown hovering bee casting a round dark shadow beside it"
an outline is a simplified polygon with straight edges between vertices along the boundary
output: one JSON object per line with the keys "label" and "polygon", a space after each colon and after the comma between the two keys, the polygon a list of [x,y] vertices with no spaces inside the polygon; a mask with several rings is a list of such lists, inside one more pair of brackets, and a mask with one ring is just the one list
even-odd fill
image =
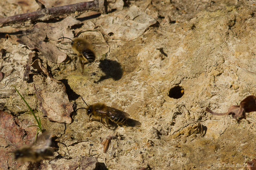
{"label": "fuzzy brown hovering bee casting a round dark shadow beside it", "polygon": [[[61,38],[67,38],[67,37],[61,37]],[[67,39],[71,40],[72,49],[74,53],[76,53],[79,56],[79,59],[82,65],[87,64],[88,62],[92,63],[95,60],[96,57],[92,50],[92,47],[89,42],[84,40],[84,38],[74,38],[73,40],[70,38],[67,38]]]}

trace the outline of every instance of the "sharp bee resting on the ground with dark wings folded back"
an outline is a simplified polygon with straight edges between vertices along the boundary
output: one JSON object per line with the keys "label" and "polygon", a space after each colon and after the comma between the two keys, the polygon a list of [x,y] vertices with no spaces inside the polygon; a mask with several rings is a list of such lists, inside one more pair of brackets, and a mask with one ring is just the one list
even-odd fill
{"label": "sharp bee resting on the ground with dark wings folded back", "polygon": [[[83,98],[82,100],[84,101]],[[84,103],[87,105],[85,101]],[[122,125],[128,125],[128,122],[133,120],[129,118],[130,115],[128,113],[124,111],[120,111],[116,108],[108,107],[104,103],[95,103],[93,105],[87,105],[87,106],[88,106],[87,108],[83,108],[83,109],[87,110],[87,115],[89,116],[88,122],[99,121],[103,125],[109,128],[109,123],[111,122],[122,126]],[[103,121],[105,122],[105,124],[103,123]],[[136,125],[140,125],[140,123],[136,123]]]}

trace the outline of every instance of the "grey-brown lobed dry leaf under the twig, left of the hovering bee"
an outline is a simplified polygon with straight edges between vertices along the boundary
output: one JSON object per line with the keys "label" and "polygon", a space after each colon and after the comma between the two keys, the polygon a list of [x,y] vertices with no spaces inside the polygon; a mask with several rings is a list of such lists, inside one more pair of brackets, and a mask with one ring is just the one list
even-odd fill
{"label": "grey-brown lobed dry leaf under the twig, left of the hovering bee", "polygon": [[23,31],[23,35],[18,36],[21,44],[26,45],[29,49],[38,49],[44,57],[54,63],[61,63],[67,58],[67,54],[60,51],[52,42],[45,40],[57,41],[60,37],[73,38],[70,30],[72,26],[81,25],[79,20],[67,17],[58,23],[37,23],[32,29]]}

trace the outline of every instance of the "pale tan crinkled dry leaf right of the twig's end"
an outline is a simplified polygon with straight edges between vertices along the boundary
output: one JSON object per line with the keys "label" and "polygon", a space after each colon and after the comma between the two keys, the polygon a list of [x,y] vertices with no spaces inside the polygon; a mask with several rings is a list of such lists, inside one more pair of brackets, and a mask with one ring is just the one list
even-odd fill
{"label": "pale tan crinkled dry leaf right of the twig's end", "polygon": [[131,6],[128,10],[97,20],[96,26],[100,26],[102,32],[110,35],[112,39],[130,41],[139,37],[146,28],[156,22],[157,20],[140,11],[137,6]]}

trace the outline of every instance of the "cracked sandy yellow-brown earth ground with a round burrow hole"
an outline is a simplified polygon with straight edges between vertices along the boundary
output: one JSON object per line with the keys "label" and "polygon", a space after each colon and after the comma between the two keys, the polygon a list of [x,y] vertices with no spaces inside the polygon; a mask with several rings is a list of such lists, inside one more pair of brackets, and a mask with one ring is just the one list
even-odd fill
{"label": "cracked sandy yellow-brown earth ground with a round burrow hole", "polygon": [[[62,1],[61,5],[67,4]],[[38,8],[36,3],[26,3],[31,7],[28,8],[19,2],[1,2],[0,16]],[[46,7],[54,6],[47,1],[42,3]],[[44,23],[60,25],[62,29],[55,25],[61,29],[55,34],[64,37],[85,31],[79,37],[93,44],[97,62],[85,65],[82,71],[79,59],[72,55],[71,45],[48,36],[49,42],[61,47],[61,52],[72,61],[50,62],[40,50],[36,51],[36,57],[53,79],[63,82],[67,91],[67,99],[63,101],[74,110],[86,107],[79,97],[82,96],[89,105],[104,102],[127,112],[141,126],[108,129],[100,122],[88,122],[84,109],[64,115],[65,118],[63,115],[50,118],[49,112],[47,115],[42,111],[34,85],[38,91],[47,93],[45,98],[64,99],[65,94],[60,94],[61,88],[55,88],[58,82],[49,79],[45,72],[33,73],[28,82],[23,81],[24,65],[32,49],[26,44],[28,41],[25,45],[15,41],[21,39],[18,34],[24,34],[20,30],[35,26],[3,27],[0,48],[6,49],[6,54],[0,58],[0,71],[4,73],[0,80],[0,108],[11,114],[4,121],[15,120],[12,128],[25,129],[28,135],[24,138],[23,134],[20,139],[23,144],[34,141],[36,128],[27,125],[35,124],[35,119],[13,90],[15,85],[30,107],[38,110],[36,115],[40,116],[43,128],[55,136],[56,158],[37,164],[17,163],[12,153],[8,153],[17,147],[3,133],[9,130],[9,125],[3,126],[2,122],[0,138],[5,142],[0,149],[6,157],[1,162],[2,169],[67,168],[68,165],[61,165],[83,162],[81,158],[86,156],[97,158],[109,170],[136,170],[147,165],[154,170],[215,170],[230,169],[230,166],[246,170],[247,161],[256,158],[255,112],[247,113],[247,119],[237,122],[232,116],[207,113],[205,108],[224,113],[246,96],[256,95],[256,3],[253,0],[116,0],[112,3],[116,10],[109,14],[70,15],[72,20],[78,18],[79,23],[74,27],[67,26],[63,20]],[[60,103],[59,98],[52,101]],[[114,137],[104,153],[101,142],[108,136]],[[79,164],[75,168],[84,167]]]}

